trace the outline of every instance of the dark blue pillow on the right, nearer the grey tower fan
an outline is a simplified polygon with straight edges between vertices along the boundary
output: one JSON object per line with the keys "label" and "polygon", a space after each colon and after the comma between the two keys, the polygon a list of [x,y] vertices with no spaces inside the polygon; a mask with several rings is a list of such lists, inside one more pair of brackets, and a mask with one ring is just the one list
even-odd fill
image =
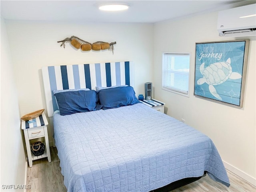
{"label": "dark blue pillow on the right, nearer the grey tower fan", "polygon": [[131,86],[102,89],[98,94],[100,104],[104,110],[140,103]]}

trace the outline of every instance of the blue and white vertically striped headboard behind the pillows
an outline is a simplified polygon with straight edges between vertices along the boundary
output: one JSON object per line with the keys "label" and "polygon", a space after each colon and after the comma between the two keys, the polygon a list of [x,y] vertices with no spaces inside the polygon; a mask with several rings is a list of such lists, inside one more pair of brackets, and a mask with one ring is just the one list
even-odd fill
{"label": "blue and white vertically striped headboard behind the pillows", "polygon": [[48,66],[42,68],[44,92],[48,116],[57,110],[52,90],[110,87],[130,85],[134,87],[133,62],[108,62],[95,64]]}

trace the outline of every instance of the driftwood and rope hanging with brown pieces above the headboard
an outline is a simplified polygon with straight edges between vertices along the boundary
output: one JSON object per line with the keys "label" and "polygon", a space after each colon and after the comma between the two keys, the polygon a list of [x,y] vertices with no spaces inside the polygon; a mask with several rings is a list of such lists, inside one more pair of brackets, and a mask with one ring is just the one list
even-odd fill
{"label": "driftwood and rope hanging with brown pieces above the headboard", "polygon": [[84,41],[76,36],[71,36],[70,38],[66,38],[62,41],[58,41],[58,43],[62,42],[62,44],[60,45],[62,47],[65,48],[65,43],[69,43],[72,44],[72,46],[74,46],[75,48],[79,49],[81,48],[82,51],[90,51],[90,50],[95,50],[95,51],[99,51],[99,50],[110,50],[112,51],[112,53],[114,54],[114,44],[116,44],[116,42],[112,42],[112,43],[108,43],[108,42],[103,42],[103,41],[97,41],[94,43],[89,43],[87,41]]}

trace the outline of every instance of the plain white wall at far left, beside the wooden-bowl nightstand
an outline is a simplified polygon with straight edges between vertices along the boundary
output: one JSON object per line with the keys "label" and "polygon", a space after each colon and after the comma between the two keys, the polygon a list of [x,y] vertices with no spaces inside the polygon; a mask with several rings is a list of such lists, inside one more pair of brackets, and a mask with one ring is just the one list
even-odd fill
{"label": "plain white wall at far left, beside the wooden-bowl nightstand", "polygon": [[[13,62],[6,25],[1,18],[1,191],[13,191],[14,186],[26,184],[26,158]],[[14,185],[6,190],[6,185]],[[4,186],[3,186],[4,185]],[[24,191],[24,190],[15,190]]]}

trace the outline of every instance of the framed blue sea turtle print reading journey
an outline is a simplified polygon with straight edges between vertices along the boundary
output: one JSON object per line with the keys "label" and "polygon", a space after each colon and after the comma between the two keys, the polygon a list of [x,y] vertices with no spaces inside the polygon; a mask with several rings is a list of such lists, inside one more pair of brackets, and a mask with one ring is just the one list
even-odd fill
{"label": "framed blue sea turtle print reading journey", "polygon": [[242,108],[249,40],[196,43],[194,95]]}

